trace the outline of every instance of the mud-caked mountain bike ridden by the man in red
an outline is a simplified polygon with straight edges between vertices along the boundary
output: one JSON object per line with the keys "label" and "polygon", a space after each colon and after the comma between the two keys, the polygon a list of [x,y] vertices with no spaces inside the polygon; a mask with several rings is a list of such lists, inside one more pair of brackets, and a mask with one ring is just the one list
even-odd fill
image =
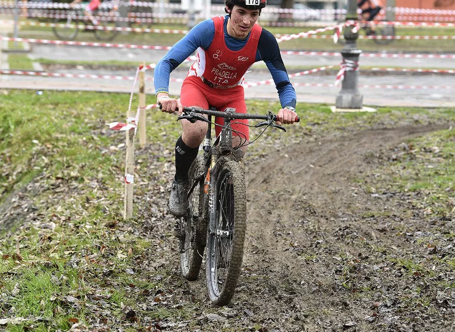
{"label": "mud-caked mountain bike ridden by the man in red", "polygon": [[[258,119],[263,121],[250,127],[266,126],[262,133],[269,127],[286,131],[275,124],[276,115],[270,111],[267,115],[235,111],[236,109],[231,108],[221,112],[215,108],[202,110],[185,107],[182,115],[178,117],[178,120],[187,119],[192,123],[209,123],[202,147],[203,156],[196,158],[188,172],[189,206],[186,216],[176,224],[176,234],[181,246],[182,276],[187,280],[198,278],[204,249],[207,248],[207,290],[211,302],[218,306],[228,304],[234,295],[243,259],[246,230],[243,152],[240,147],[232,147],[231,123],[236,119]],[[213,146],[212,116],[224,118],[221,133]],[[300,121],[298,117],[295,120]],[[244,145],[246,144],[245,137]]]}

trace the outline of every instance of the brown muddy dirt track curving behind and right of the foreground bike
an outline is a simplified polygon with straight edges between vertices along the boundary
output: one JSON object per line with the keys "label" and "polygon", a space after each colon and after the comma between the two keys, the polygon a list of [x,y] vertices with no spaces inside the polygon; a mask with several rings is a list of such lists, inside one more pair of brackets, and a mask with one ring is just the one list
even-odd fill
{"label": "brown muddy dirt track curving behind and right of the foreground bike", "polygon": [[[375,168],[406,139],[446,127],[313,137],[299,149],[247,161],[248,226],[236,295],[214,309],[203,270],[182,284],[201,306],[200,330],[453,331],[453,290],[398,263],[428,260],[428,249],[412,238],[434,232],[438,221],[425,221],[411,194],[367,192],[355,182],[377,177]],[[436,272],[454,279],[453,271]]]}

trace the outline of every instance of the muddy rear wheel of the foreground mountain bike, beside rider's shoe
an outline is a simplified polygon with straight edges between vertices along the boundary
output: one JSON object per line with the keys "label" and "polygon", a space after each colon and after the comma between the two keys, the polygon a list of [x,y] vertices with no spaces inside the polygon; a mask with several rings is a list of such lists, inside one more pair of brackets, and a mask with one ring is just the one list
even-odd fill
{"label": "muddy rear wheel of the foreground mountain bike, beside rider's shoe", "polygon": [[[199,276],[205,249],[207,211],[204,207],[204,160],[196,158],[188,172],[190,188],[188,212],[182,217],[184,240],[180,254],[182,276],[187,280],[196,280]],[[205,212],[205,213],[204,213]]]}

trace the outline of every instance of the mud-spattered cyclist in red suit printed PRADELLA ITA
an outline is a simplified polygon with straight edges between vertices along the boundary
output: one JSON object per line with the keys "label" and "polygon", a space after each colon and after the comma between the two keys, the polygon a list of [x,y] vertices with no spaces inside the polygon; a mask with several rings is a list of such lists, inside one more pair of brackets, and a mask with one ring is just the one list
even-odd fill
{"label": "mud-spattered cyclist in red suit printed PRADELLA ITA", "polygon": [[[162,111],[182,113],[183,104],[203,109],[215,106],[219,111],[229,107],[246,113],[243,76],[255,62],[262,60],[272,74],[282,107],[276,123],[294,123],[296,94],[278,43],[272,33],[256,24],[266,3],[267,0],[226,0],[224,10],[228,15],[200,22],[171,48],[154,72],[157,102],[162,105]],[[170,73],[196,50],[197,60],[182,83],[180,101],[170,98]],[[215,121],[222,124],[222,119]],[[232,124],[233,146],[239,147],[248,141],[249,130],[242,125],[247,120],[236,122]],[[182,120],[183,132],[175,146],[176,172],[169,198],[169,210],[176,217],[186,214],[188,170],[198,154],[207,126],[201,121],[192,124]],[[217,126],[217,135],[219,132]],[[241,148],[246,151],[245,147]]]}

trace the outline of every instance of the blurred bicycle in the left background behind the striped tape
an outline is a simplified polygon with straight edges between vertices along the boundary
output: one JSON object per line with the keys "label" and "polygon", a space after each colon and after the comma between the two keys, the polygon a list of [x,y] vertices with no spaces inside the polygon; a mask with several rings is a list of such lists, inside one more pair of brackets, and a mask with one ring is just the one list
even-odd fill
{"label": "blurred bicycle in the left background behind the striped tape", "polygon": [[[104,9],[106,10],[106,9]],[[62,40],[73,40],[79,33],[79,29],[86,29],[85,20],[93,25],[93,34],[95,38],[101,41],[110,41],[118,35],[116,17],[119,17],[118,7],[112,6],[108,11],[101,12],[99,9],[93,12],[93,16],[98,20],[97,24],[92,23],[84,15],[84,6],[77,9],[69,9],[63,18],[65,23],[61,23],[62,18],[57,17],[54,20],[53,31],[55,36]],[[83,23],[83,24],[82,24]]]}

